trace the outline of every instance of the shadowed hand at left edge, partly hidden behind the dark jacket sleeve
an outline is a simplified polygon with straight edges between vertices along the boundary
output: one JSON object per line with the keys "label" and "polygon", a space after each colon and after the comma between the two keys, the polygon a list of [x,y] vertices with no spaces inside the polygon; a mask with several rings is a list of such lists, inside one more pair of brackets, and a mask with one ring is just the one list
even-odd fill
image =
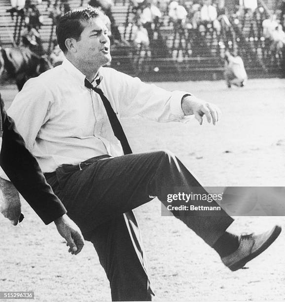
{"label": "shadowed hand at left edge, partly hidden behind the dark jacket sleeve", "polygon": [[0,198],[0,212],[5,218],[11,221],[13,226],[19,222],[21,215],[20,196],[14,185],[0,178],[0,188],[2,191],[2,198]]}

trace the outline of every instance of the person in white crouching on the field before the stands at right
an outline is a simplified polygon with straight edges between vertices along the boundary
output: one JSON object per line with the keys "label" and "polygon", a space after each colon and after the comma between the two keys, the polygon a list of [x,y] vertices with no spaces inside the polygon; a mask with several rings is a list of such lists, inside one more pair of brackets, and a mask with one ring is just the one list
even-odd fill
{"label": "person in white crouching on the field before the stands at right", "polygon": [[243,87],[248,79],[247,72],[245,70],[243,59],[234,52],[231,55],[227,50],[225,52],[225,80],[227,86],[231,88],[231,85]]}

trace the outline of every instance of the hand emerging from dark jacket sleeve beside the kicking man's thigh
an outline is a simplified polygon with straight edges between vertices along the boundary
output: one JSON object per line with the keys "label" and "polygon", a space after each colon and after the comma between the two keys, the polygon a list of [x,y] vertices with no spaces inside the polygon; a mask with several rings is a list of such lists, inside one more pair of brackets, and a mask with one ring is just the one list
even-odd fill
{"label": "hand emerging from dark jacket sleeve beside the kicking man's thigh", "polygon": [[84,246],[84,239],[79,227],[65,214],[54,221],[60,235],[67,241],[69,252],[73,255],[80,253]]}

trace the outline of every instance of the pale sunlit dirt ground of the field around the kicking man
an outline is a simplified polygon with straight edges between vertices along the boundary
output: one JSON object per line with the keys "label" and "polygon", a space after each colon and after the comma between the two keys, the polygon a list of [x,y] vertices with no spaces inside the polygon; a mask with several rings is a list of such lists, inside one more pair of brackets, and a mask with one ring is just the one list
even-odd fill
{"label": "pale sunlit dirt ground of the field around the kicking man", "polygon": [[[285,80],[252,79],[244,88],[216,82],[159,82],[220,106],[216,125],[124,120],[133,151],[168,149],[205,186],[285,186]],[[9,107],[14,86],[0,89]],[[110,301],[108,281],[90,243],[67,253],[23,201],[23,227],[0,217],[0,291],[34,291],[36,301]],[[234,232],[284,231],[249,269],[231,272],[215,252],[174,217],[162,217],[158,200],[135,210],[141,225],[155,301],[284,301],[285,218],[237,217]]]}

